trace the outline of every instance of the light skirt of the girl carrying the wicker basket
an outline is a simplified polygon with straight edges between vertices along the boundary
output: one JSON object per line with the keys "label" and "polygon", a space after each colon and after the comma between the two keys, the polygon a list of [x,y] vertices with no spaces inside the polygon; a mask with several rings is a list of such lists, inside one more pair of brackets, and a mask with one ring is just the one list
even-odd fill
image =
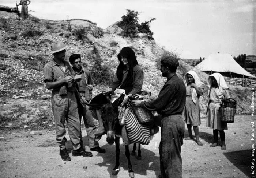
{"label": "light skirt of the girl carrying the wicker basket", "polygon": [[227,130],[227,123],[221,122],[219,107],[221,107],[220,103],[211,102],[209,104],[207,111],[208,120],[206,120],[206,126],[212,128],[213,130]]}

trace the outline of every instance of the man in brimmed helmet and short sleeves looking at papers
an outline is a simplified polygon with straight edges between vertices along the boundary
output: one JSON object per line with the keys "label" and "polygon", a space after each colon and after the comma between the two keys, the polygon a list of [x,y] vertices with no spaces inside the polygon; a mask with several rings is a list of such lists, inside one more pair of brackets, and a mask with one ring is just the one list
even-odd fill
{"label": "man in brimmed helmet and short sleeves looking at papers", "polygon": [[52,89],[52,111],[56,127],[56,140],[60,147],[63,161],[71,161],[65,143],[65,120],[68,134],[73,145],[72,156],[93,156],[80,145],[81,127],[75,97],[75,79],[72,67],[65,61],[66,46],[59,42],[52,45],[53,60],[44,67],[44,82],[47,89]]}

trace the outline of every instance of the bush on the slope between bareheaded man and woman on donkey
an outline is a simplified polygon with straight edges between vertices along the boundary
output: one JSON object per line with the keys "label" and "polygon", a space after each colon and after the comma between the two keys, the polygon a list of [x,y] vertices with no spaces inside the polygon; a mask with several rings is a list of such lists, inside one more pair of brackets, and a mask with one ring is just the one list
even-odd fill
{"label": "bush on the slope between bareheaded man and woman on donkey", "polygon": [[94,46],[93,50],[94,54],[96,55],[95,63],[92,67],[91,74],[94,79],[95,84],[102,84],[102,85],[109,85],[112,82],[112,72],[109,70],[109,65],[102,64],[103,60],[99,55],[97,48]]}

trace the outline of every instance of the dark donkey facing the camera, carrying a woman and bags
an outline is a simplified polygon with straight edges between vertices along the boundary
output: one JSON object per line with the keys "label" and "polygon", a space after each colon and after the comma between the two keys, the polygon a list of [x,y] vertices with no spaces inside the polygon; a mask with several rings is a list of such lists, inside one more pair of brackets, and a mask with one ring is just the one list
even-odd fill
{"label": "dark donkey facing the camera, carrying a woman and bags", "polygon": [[[106,141],[108,144],[112,145],[115,142],[116,145],[116,165],[112,171],[112,175],[117,175],[120,166],[120,137],[121,137],[121,128],[118,122],[118,106],[123,102],[124,94],[122,94],[118,99],[116,99],[113,103],[110,102],[110,94],[109,92],[106,95],[99,94],[95,96],[89,106],[91,109],[101,109],[102,110],[102,120],[103,126],[106,131]],[[138,146],[138,157],[137,159],[141,159],[141,150],[140,144]],[[133,144],[132,155],[135,155],[136,143]],[[128,172],[129,177],[134,177],[134,172],[132,170],[132,164],[130,159],[129,146],[125,145],[125,156],[128,159]]]}

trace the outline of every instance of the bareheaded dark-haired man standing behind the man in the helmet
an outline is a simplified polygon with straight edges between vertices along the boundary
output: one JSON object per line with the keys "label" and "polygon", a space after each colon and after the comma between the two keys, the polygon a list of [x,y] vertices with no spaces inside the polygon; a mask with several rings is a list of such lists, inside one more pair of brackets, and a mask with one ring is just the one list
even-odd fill
{"label": "bareheaded dark-haired man standing behind the man in the helmet", "polygon": [[[72,64],[72,68],[77,75],[81,76],[81,80],[76,82],[76,88],[78,90],[78,114],[81,122],[82,116],[84,120],[84,125],[86,128],[87,136],[89,139],[89,147],[91,151],[97,151],[98,153],[105,153],[106,150],[99,147],[99,139],[101,136],[95,136],[95,132],[97,127],[93,122],[93,115],[91,110],[89,110],[89,106],[84,103],[89,103],[92,99],[92,90],[93,90],[93,79],[91,77],[91,73],[89,70],[82,67],[81,55],[80,54],[72,54],[69,57],[69,62]],[[80,145],[83,148],[83,139],[82,134],[80,138]]]}

